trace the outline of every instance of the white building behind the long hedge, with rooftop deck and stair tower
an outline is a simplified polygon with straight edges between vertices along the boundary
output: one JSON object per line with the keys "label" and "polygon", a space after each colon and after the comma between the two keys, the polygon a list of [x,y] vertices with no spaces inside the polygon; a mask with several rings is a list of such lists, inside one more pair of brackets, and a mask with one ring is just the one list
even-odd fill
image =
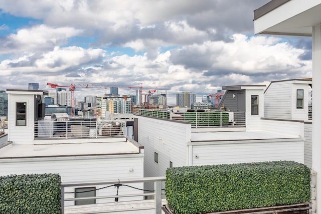
{"label": "white building behind the long hedge, with rooftop deck and stair tower", "polygon": [[[225,86],[224,111],[140,110],[134,140],[145,149],[144,176],[168,167],[293,160],[305,163],[304,121],[263,118],[264,85]],[[310,157],[310,156],[309,156]],[[145,188],[152,186],[145,185]]]}

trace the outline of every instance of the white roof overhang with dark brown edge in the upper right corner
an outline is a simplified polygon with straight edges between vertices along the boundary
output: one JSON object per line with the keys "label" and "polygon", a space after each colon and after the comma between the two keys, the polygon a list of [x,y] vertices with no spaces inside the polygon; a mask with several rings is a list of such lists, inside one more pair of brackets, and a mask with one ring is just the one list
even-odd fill
{"label": "white roof overhang with dark brown edge in the upper right corner", "polygon": [[312,36],[321,23],[321,0],[272,0],[254,11],[255,34]]}

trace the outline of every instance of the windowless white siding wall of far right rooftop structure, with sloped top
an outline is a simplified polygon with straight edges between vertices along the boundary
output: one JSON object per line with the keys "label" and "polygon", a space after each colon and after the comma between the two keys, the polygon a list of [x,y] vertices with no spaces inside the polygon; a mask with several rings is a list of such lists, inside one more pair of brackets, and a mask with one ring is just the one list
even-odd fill
{"label": "windowless white siding wall of far right rooftop structure, with sloped top", "polygon": [[291,119],[291,84],[272,83],[264,94],[264,117]]}

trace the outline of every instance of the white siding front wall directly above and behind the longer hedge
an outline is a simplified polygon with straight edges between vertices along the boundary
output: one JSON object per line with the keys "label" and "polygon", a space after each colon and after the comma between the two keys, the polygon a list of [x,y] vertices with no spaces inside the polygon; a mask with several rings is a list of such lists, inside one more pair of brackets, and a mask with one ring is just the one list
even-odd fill
{"label": "white siding front wall directly above and behind the longer hedge", "polygon": [[[195,155],[198,158],[195,158]],[[303,163],[303,139],[193,145],[193,165],[293,160]]]}

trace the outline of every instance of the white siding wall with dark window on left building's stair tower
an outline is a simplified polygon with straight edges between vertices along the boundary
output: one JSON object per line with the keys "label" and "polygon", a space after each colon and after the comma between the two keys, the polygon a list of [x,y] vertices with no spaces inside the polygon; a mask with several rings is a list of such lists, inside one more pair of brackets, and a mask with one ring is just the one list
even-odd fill
{"label": "white siding wall with dark window on left building's stair tower", "polygon": [[[35,127],[34,95],[9,94],[8,102],[8,140],[14,144],[32,144]],[[16,126],[16,102],[27,103],[27,126]]]}

